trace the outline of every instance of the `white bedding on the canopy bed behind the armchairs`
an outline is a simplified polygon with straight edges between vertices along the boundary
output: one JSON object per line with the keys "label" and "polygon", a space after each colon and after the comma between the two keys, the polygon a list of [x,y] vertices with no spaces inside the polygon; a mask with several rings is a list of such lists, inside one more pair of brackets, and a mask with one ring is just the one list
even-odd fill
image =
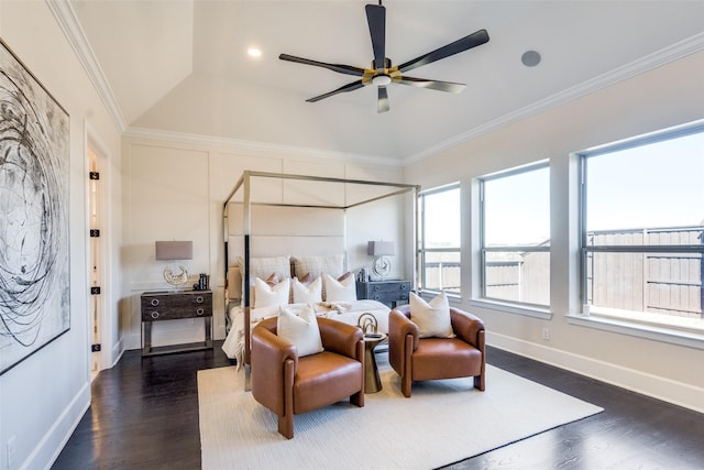
{"label": "white bedding on the canopy bed behind the armchairs", "polygon": [[[288,307],[296,311],[307,304],[289,304]],[[376,318],[380,332],[388,332],[388,313],[391,308],[377,300],[354,300],[314,304],[314,310],[318,317],[332,318],[349,325],[358,325],[362,314],[372,314]],[[230,332],[226,338],[222,350],[230,359],[237,359],[238,368],[242,364],[244,356],[244,310],[239,307],[230,308]],[[278,316],[278,306],[253,308],[250,310],[250,331],[264,318]]]}

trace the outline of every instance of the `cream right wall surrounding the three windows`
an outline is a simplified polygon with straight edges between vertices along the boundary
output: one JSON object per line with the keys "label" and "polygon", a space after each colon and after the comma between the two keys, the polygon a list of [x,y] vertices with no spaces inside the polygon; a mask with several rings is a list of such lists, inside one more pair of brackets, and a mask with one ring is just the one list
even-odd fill
{"label": "cream right wall surrounding the three windows", "polygon": [[[420,183],[424,189],[462,182],[462,307],[485,320],[488,343],[704,411],[704,374],[694,372],[702,369],[704,350],[576,326],[565,318],[579,308],[574,241],[578,201],[576,192],[566,192],[568,175],[574,170],[570,152],[704,118],[702,84],[704,53],[697,53],[405,168],[405,179]],[[472,307],[469,293],[476,283],[470,236],[470,219],[475,218],[470,197],[472,178],[544,159],[550,159],[553,178],[552,319]],[[550,328],[549,341],[541,339],[543,327]]]}

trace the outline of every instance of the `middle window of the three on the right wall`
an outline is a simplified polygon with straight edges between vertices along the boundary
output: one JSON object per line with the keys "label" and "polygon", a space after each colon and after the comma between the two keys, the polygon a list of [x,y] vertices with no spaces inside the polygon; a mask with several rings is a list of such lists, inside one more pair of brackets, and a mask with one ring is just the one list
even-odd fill
{"label": "middle window of the three on the right wall", "polygon": [[548,163],[480,178],[482,297],[550,304]]}

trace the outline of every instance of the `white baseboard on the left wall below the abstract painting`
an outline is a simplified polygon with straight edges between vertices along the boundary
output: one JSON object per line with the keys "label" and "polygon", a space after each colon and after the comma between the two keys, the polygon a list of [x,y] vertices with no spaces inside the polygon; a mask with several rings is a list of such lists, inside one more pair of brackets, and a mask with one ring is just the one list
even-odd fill
{"label": "white baseboard on the left wall below the abstract painting", "polygon": [[90,406],[90,381],[86,381],[74,400],[54,422],[51,428],[37,442],[32,453],[20,466],[26,469],[47,469],[56,461],[59,453],[76,430],[78,423]]}

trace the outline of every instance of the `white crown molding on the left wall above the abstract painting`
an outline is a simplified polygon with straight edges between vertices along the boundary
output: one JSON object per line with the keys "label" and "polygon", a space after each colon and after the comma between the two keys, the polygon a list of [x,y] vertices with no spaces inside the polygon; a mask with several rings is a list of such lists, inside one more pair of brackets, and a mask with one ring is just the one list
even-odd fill
{"label": "white crown molding on the left wall above the abstract painting", "polygon": [[100,96],[100,99],[105,103],[110,118],[112,118],[118,129],[124,132],[128,128],[124,116],[122,116],[118,100],[114,98],[112,88],[106,79],[102,68],[92,52],[92,47],[90,47],[88,43],[86,33],[76,18],[76,12],[73,7],[68,0],[46,0],[46,4],[68,39],[78,61],[84,66],[86,74],[88,74],[88,78],[90,78],[90,81],[92,81],[96,87],[98,96]]}

